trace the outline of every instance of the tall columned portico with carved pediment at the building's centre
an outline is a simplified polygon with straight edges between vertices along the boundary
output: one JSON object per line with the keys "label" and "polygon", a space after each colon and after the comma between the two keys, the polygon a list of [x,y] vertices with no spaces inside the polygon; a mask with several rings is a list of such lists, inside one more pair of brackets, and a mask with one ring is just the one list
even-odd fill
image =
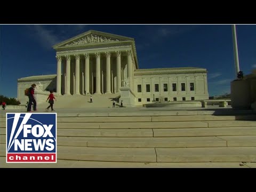
{"label": "tall columned portico with carved pediment at the building's centre", "polygon": [[124,78],[132,86],[133,71],[138,68],[132,38],[90,30],[53,48],[57,94],[118,93]]}

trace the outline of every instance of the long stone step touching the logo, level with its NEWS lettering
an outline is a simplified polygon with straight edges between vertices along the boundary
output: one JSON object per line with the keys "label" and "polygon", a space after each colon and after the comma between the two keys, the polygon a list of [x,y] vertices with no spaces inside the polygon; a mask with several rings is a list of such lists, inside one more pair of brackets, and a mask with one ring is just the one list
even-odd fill
{"label": "long stone step touching the logo, level with its NEWS lettering", "polygon": [[217,137],[172,138],[88,138],[58,137],[58,146],[85,147],[226,147],[227,142]]}

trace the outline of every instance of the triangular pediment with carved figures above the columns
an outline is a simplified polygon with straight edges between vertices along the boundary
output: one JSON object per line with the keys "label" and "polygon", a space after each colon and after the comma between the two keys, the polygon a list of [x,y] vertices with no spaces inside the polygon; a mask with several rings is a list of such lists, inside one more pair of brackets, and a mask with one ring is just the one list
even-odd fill
{"label": "triangular pediment with carved figures above the columns", "polygon": [[83,34],[77,35],[66,41],[53,45],[53,48],[77,46],[77,45],[91,45],[91,44],[107,44],[111,42],[124,42],[134,41],[133,38],[124,37],[120,35],[114,35],[104,33],[101,31],[89,30]]}

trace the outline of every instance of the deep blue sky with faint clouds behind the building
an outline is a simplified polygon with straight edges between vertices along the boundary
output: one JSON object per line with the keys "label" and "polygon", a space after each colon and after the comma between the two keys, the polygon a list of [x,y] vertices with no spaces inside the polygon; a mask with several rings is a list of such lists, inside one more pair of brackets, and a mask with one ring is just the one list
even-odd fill
{"label": "deep blue sky with faint clouds behind the building", "polygon": [[[209,95],[235,79],[230,25],[1,25],[0,94],[17,97],[17,79],[57,73],[52,45],[87,30],[135,39],[139,68],[202,67]],[[256,68],[256,25],[237,25],[240,70]]]}

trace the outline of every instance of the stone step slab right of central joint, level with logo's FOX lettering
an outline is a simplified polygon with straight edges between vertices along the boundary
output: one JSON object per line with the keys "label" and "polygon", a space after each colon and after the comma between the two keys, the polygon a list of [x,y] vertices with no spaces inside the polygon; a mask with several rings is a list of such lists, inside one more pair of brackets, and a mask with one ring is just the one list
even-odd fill
{"label": "stone step slab right of central joint, level with logo's FOX lettering", "polygon": [[199,137],[225,135],[256,135],[256,127],[212,127],[183,129],[153,129],[154,137]]}

